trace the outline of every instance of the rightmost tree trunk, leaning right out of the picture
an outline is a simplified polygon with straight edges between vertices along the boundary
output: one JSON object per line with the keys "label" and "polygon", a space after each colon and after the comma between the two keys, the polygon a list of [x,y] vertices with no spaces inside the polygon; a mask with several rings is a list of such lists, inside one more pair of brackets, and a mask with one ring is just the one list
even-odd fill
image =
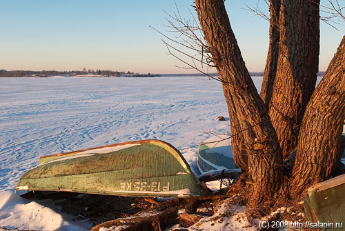
{"label": "rightmost tree trunk, leaning right out of the picture", "polygon": [[337,160],[345,119],[345,37],[317,86],[299,132],[290,194],[331,176]]}

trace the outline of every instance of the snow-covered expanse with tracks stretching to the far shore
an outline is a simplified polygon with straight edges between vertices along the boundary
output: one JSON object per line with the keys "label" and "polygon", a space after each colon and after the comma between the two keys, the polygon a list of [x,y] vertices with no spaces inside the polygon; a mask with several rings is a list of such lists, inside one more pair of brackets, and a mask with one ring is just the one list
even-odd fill
{"label": "snow-covered expanse with tracks stretching to the far shore", "polygon": [[[253,79],[259,88],[262,77]],[[228,118],[221,84],[204,77],[1,78],[0,226],[90,227],[13,193],[40,156],[161,139],[193,163],[198,145],[212,136],[205,132],[230,132],[229,121],[215,121],[219,115]]]}

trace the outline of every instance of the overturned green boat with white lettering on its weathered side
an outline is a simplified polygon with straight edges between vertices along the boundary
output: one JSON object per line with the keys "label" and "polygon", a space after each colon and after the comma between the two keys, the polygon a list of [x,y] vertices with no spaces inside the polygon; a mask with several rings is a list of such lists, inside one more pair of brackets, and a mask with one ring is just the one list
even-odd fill
{"label": "overturned green boat with white lettering on its weathered side", "polygon": [[148,197],[192,197],[206,188],[181,153],[159,140],[52,154],[19,179],[15,190]]}

